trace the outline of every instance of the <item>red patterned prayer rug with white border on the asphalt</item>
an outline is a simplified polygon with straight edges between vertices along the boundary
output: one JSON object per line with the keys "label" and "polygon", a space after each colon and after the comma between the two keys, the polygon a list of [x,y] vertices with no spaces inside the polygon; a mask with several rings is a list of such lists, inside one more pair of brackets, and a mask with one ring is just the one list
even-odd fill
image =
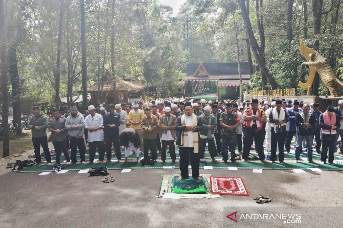
{"label": "red patterned prayer rug with white border on the asphalt", "polygon": [[221,195],[249,196],[242,178],[210,176],[211,193]]}

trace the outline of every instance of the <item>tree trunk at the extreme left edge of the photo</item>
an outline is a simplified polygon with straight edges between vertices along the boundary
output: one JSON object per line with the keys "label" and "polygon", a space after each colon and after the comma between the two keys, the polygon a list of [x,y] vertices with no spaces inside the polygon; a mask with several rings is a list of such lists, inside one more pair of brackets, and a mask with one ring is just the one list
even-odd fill
{"label": "tree trunk at the extreme left edge of the photo", "polygon": [[6,43],[6,22],[5,15],[3,11],[4,2],[0,0],[0,59],[1,59],[1,93],[2,93],[2,125],[3,125],[3,146],[2,146],[2,157],[9,156],[10,153],[10,138],[9,138],[9,126],[8,126],[8,106],[9,106],[9,94],[8,94],[8,78],[7,78],[7,43]]}

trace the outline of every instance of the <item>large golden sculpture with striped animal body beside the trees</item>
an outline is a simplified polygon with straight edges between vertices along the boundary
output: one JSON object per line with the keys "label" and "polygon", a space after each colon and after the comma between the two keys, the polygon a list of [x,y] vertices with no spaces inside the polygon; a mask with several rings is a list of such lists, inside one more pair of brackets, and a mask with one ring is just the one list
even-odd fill
{"label": "large golden sculpture with striped animal body beside the trees", "polygon": [[305,46],[303,40],[300,41],[300,53],[308,62],[304,62],[301,66],[309,66],[310,72],[306,83],[299,82],[303,89],[308,89],[312,85],[316,71],[319,73],[320,79],[329,89],[331,96],[339,97],[342,95],[343,83],[336,77],[328,59],[324,58],[319,52]]}

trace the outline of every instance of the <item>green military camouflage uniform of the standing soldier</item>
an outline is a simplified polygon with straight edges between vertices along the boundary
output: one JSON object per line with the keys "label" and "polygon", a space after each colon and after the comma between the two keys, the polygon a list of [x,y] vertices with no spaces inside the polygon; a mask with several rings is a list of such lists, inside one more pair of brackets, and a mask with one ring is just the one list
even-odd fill
{"label": "green military camouflage uniform of the standing soldier", "polygon": [[[220,119],[224,124],[228,126],[233,126],[237,123],[237,113],[232,111],[228,113],[227,111],[222,112]],[[235,161],[236,159],[236,145],[237,145],[237,136],[236,136],[236,128],[231,130],[227,130],[225,128],[222,129],[222,156],[223,160],[227,161],[228,152],[227,148],[229,148],[231,152],[231,161]]]}

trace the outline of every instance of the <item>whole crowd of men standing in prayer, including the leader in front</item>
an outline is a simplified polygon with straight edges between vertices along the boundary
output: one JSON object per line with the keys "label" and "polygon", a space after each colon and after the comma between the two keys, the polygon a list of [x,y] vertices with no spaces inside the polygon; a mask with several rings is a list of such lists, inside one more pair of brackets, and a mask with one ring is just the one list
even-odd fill
{"label": "whole crowd of men standing in prayer, including the leader in front", "polygon": [[[139,162],[139,154],[154,161],[165,162],[167,147],[170,158],[177,162],[176,145],[179,146],[181,178],[188,177],[191,161],[192,176],[199,178],[200,159],[204,158],[205,147],[213,161],[220,153],[222,162],[237,163],[237,152],[241,162],[249,160],[251,146],[255,146],[258,159],[265,160],[270,154],[270,163],[284,162],[284,153],[289,153],[293,138],[294,162],[300,159],[303,147],[307,149],[309,163],[312,159],[312,143],[321,154],[320,163],[334,164],[335,145],[343,134],[343,100],[338,106],[329,105],[323,113],[319,104],[303,104],[297,100],[252,99],[206,101],[205,99],[164,98],[140,100],[131,104],[90,105],[82,114],[80,108],[71,106],[70,115],[64,108],[51,111],[51,118],[39,107],[28,127],[32,129],[32,142],[36,164],[39,164],[42,146],[47,164],[51,163],[48,141],[56,151],[56,163],[60,163],[63,152],[67,164],[75,164],[77,149],[81,163],[93,163],[96,149],[99,163],[110,162],[112,147],[116,159],[121,162],[120,147],[125,149],[125,161],[133,151]],[[46,130],[51,132],[49,139]],[[264,149],[265,141],[265,149]],[[86,145],[89,147],[85,161]],[[70,149],[70,157],[68,151]],[[342,152],[342,146],[340,148]],[[278,158],[276,156],[278,152]],[[157,153],[161,153],[158,160]],[[106,154],[106,158],[105,158]],[[229,157],[230,154],[230,157]]]}

